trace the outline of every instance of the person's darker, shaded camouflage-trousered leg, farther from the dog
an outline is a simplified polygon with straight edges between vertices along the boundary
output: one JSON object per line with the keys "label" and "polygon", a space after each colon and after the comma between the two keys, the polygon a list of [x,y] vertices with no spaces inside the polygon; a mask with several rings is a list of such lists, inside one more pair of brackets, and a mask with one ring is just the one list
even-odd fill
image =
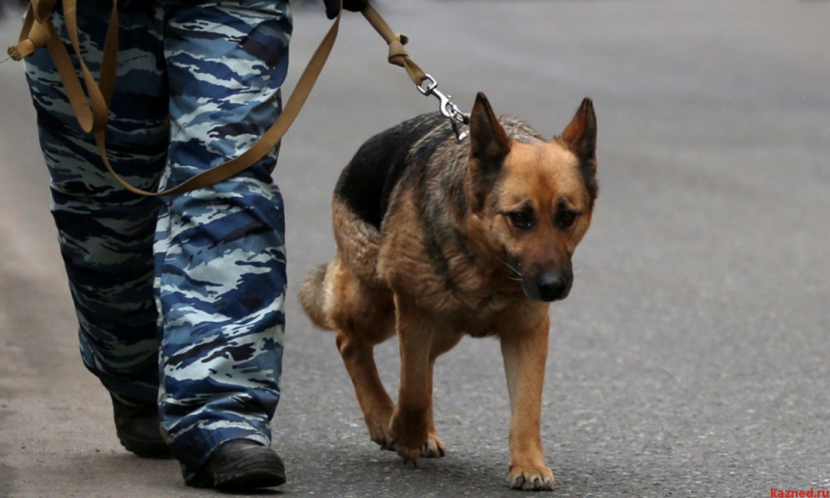
{"label": "person's darker, shaded camouflage-trousered leg, farther from the dog", "polygon": [[[109,22],[106,4],[79,12],[85,61],[97,72]],[[54,15],[63,32],[60,12]],[[160,18],[145,9],[120,16],[120,56],[107,140],[129,181],[151,188],[164,168],[167,92]],[[27,60],[41,149],[51,173],[52,214],[79,322],[81,356],[121,403],[155,407],[159,341],[152,243],[158,202],[126,193],[77,125],[48,51]],[[158,432],[158,431],[157,431]]]}

